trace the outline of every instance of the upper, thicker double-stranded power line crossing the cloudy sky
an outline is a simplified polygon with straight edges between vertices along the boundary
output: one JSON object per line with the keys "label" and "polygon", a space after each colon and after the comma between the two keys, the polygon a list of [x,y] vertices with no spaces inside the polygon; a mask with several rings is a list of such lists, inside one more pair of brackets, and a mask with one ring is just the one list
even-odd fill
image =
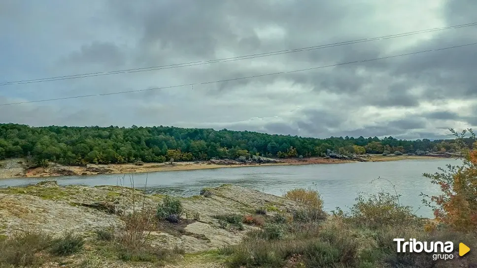
{"label": "upper, thicker double-stranded power line crossing the cloudy sky", "polygon": [[86,78],[86,77],[104,76],[104,75],[112,75],[112,74],[120,74],[120,73],[134,73],[134,72],[143,72],[143,71],[152,71],[152,70],[162,70],[162,69],[206,65],[206,64],[213,64],[213,63],[240,61],[240,60],[247,60],[247,59],[269,57],[269,56],[275,56],[275,55],[281,55],[281,54],[310,51],[310,50],[316,50],[316,49],[322,49],[322,48],[328,48],[328,47],[350,45],[350,44],[370,42],[370,41],[376,41],[376,40],[382,40],[382,39],[398,38],[398,37],[404,37],[404,36],[409,36],[409,35],[414,35],[414,34],[430,33],[430,32],[436,32],[436,31],[449,30],[449,29],[471,27],[471,26],[477,26],[477,22],[467,23],[467,24],[460,24],[460,25],[455,25],[455,26],[442,27],[442,28],[432,28],[432,29],[408,32],[408,33],[398,33],[398,34],[392,34],[392,35],[385,35],[385,36],[379,36],[379,37],[374,37],[374,38],[357,39],[357,40],[351,40],[351,41],[345,41],[345,42],[339,42],[339,43],[331,43],[331,44],[303,47],[303,48],[296,48],[296,49],[279,50],[279,51],[273,51],[273,52],[267,52],[267,53],[251,54],[251,55],[232,57],[232,58],[224,58],[224,59],[217,59],[217,60],[190,62],[190,63],[181,63],[181,64],[154,66],[154,67],[142,67],[142,68],[124,69],[124,70],[116,70],[116,71],[91,72],[91,73],[83,73],[83,74],[73,74],[73,75],[55,76],[55,77],[48,77],[48,78],[30,79],[30,80],[10,81],[10,82],[0,83],[0,86],[14,85],[14,84],[18,85],[18,84],[41,83],[41,82],[48,82],[48,81]]}

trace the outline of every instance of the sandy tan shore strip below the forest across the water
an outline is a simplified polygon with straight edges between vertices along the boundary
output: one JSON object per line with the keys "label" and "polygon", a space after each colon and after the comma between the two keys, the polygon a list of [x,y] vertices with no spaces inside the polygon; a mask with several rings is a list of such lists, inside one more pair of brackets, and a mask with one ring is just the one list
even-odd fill
{"label": "sandy tan shore strip below the forest across the water", "polygon": [[[429,156],[382,156],[371,155],[370,162],[398,161],[405,159],[439,159]],[[21,178],[21,177],[50,177],[65,175],[95,175],[95,174],[119,174],[119,173],[140,173],[174,170],[195,170],[207,168],[224,167],[258,167],[258,166],[283,166],[283,165],[313,165],[313,164],[341,164],[355,161],[340,159],[325,159],[322,157],[311,157],[303,160],[283,159],[283,163],[275,164],[240,164],[240,165],[217,165],[204,162],[179,162],[172,165],[166,163],[144,163],[142,166],[134,164],[110,164],[110,165],[88,165],[87,167],[61,166],[27,168],[24,159],[9,159],[0,161],[0,179]]]}

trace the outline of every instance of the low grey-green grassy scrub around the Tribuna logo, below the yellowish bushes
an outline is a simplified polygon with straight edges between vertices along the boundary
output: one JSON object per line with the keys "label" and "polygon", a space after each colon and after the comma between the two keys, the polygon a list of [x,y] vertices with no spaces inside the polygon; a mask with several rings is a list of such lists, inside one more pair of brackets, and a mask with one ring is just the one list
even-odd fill
{"label": "low grey-green grassy scrub around the Tribuna logo, below the yellowish bushes", "polygon": [[401,226],[370,231],[357,229],[335,217],[321,223],[291,223],[282,227],[286,230],[275,226],[250,232],[239,245],[223,247],[219,253],[228,256],[226,264],[231,268],[285,267],[291,259],[297,265],[301,264],[297,267],[304,268],[452,268],[468,267],[460,266],[459,262],[477,262],[476,254],[463,260],[439,262],[432,260],[432,254],[396,253],[395,237],[412,237],[421,241],[447,241],[450,238],[477,245],[475,235],[462,236],[448,230],[428,234],[422,229]]}

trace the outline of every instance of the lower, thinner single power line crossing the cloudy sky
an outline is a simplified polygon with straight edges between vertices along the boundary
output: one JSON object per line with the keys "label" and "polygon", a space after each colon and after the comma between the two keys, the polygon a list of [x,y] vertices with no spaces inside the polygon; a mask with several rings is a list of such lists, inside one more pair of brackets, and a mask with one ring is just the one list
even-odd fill
{"label": "lower, thinner single power line crossing the cloudy sky", "polygon": [[32,103],[32,102],[43,102],[43,101],[50,101],[50,100],[68,100],[68,99],[78,99],[78,98],[86,98],[86,97],[97,97],[97,96],[117,95],[117,94],[125,94],[125,93],[141,92],[141,91],[152,91],[152,90],[158,90],[158,89],[178,88],[178,87],[186,87],[186,86],[194,86],[194,85],[206,85],[206,84],[213,84],[213,83],[220,83],[220,82],[227,82],[227,81],[236,81],[236,80],[241,80],[241,79],[250,79],[250,78],[270,76],[270,75],[277,75],[277,74],[285,74],[285,73],[292,73],[292,72],[299,72],[299,71],[307,71],[307,70],[313,70],[313,69],[321,69],[321,68],[327,68],[327,67],[336,67],[336,66],[347,65],[347,64],[353,64],[353,63],[371,62],[371,61],[377,61],[377,60],[383,60],[383,59],[390,59],[390,58],[396,58],[396,57],[402,57],[402,56],[408,56],[408,55],[426,53],[426,52],[431,52],[431,51],[439,51],[439,50],[453,49],[453,48],[464,47],[464,46],[471,46],[471,45],[476,45],[476,44],[477,44],[477,42],[476,42],[476,43],[465,44],[465,45],[457,45],[457,46],[451,46],[451,47],[444,47],[444,48],[438,48],[438,49],[430,49],[430,50],[424,50],[424,51],[418,51],[418,52],[412,52],[412,53],[406,53],[406,54],[400,54],[400,55],[394,55],[394,56],[387,56],[387,57],[375,58],[375,59],[370,59],[370,60],[346,62],[346,63],[339,63],[339,64],[333,64],[333,65],[326,65],[326,66],[311,67],[311,68],[306,68],[306,69],[299,69],[299,70],[292,70],[292,71],[282,71],[282,72],[274,72],[274,73],[267,73],[267,74],[260,74],[260,75],[239,77],[239,78],[231,78],[231,79],[224,79],[224,80],[217,80],[217,81],[208,81],[208,82],[202,82],[202,83],[191,83],[191,84],[175,85],[175,86],[168,86],[168,87],[157,87],[157,88],[150,88],[150,89],[130,90],[130,91],[121,91],[121,92],[114,92],[114,93],[82,95],[82,96],[64,97],[64,98],[56,98],[56,99],[31,100],[31,101],[22,101],[22,102],[13,102],[13,103],[3,103],[3,104],[0,104],[0,106],[4,106],[4,105],[14,105],[14,104],[23,104],[23,103]]}

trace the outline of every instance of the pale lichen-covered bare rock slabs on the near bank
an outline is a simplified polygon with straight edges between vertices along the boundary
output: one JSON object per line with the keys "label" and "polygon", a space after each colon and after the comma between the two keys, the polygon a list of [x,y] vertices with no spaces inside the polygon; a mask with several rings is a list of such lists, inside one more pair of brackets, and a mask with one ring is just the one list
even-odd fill
{"label": "pale lichen-covered bare rock slabs on the near bank", "polygon": [[[243,231],[222,229],[217,214],[249,214],[256,208],[270,209],[270,215],[278,210],[293,211],[299,205],[282,197],[233,185],[206,188],[208,197],[182,198],[184,209],[181,220],[168,219],[151,233],[152,243],[187,252],[216,249],[223,245],[239,243],[243,235],[254,227],[245,226]],[[133,194],[134,193],[134,194]],[[10,234],[25,228],[38,228],[52,234],[62,234],[75,229],[81,235],[95,239],[97,229],[117,226],[118,210],[131,212],[146,209],[153,211],[163,195],[148,195],[142,191],[119,186],[59,186],[55,181],[41,182],[28,187],[0,189],[0,233]],[[144,204],[143,204],[144,203]],[[186,219],[186,215],[200,215],[200,220]],[[184,226],[180,226],[183,224]],[[175,228],[175,229],[174,229]],[[177,228],[181,228],[177,232]]]}

